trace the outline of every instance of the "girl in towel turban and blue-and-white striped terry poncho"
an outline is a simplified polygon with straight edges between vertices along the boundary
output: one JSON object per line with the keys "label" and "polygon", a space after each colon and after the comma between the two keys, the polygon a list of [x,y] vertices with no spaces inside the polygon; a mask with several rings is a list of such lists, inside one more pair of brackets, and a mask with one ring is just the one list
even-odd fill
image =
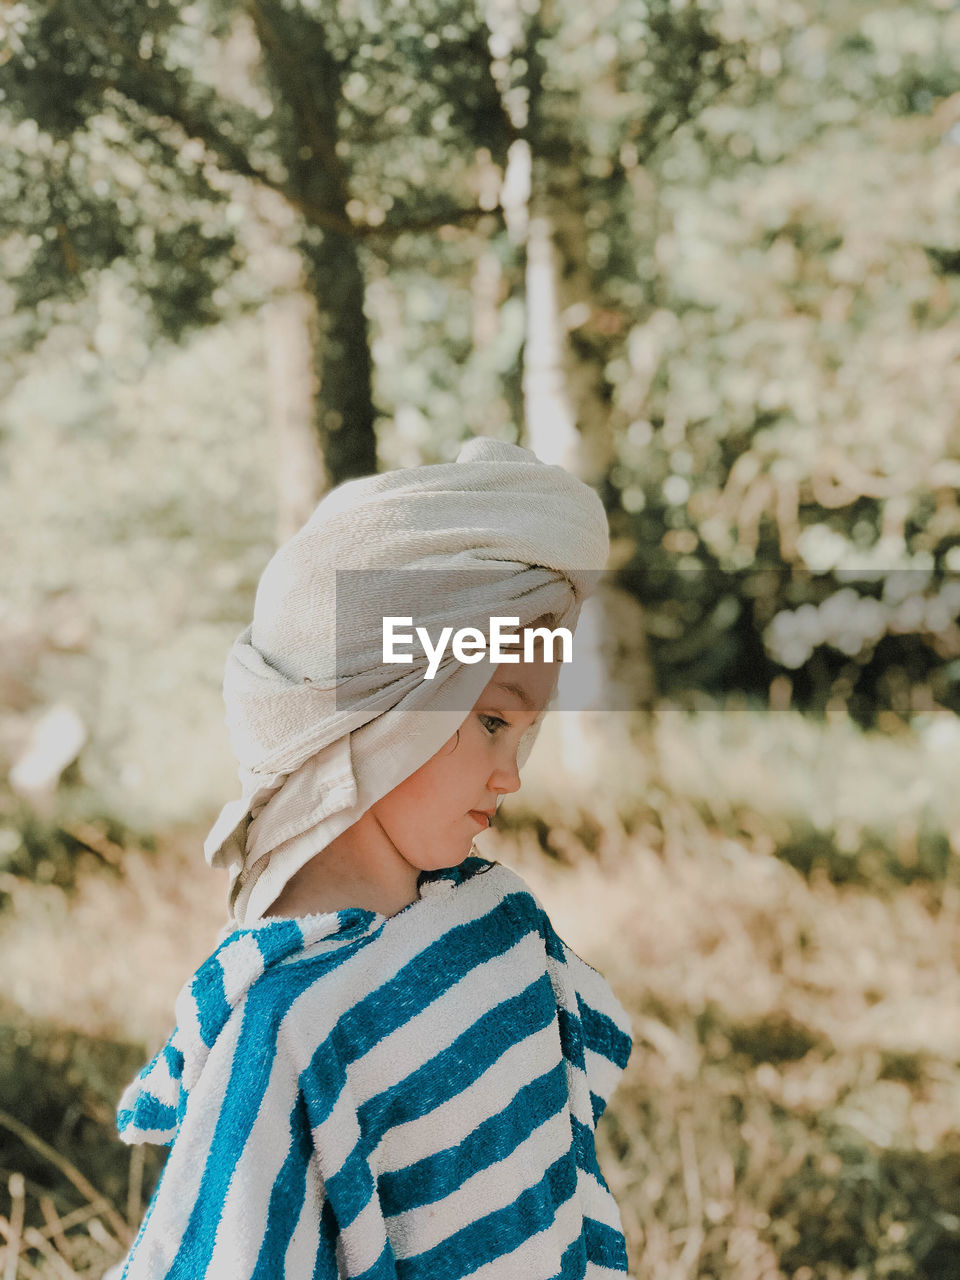
{"label": "girl in towel turban and blue-and-white striped terry poncho", "polygon": [[230,919],[118,1112],[170,1144],[124,1280],[626,1272],[594,1129],[627,1016],[472,844],[557,667],[428,682],[376,644],[413,581],[431,621],[572,630],[607,549],[593,490],[477,438],[342,485],[265,570],[224,680],[243,795],[205,846]]}

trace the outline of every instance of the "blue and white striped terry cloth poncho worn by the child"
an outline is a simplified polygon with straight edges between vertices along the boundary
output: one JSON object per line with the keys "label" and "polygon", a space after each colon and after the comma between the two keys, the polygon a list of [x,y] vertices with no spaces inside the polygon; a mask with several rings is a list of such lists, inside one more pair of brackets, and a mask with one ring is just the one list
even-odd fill
{"label": "blue and white striped terry cloth poncho worn by the child", "polygon": [[420,888],[238,929],[187,983],[119,1105],[170,1144],[124,1280],[627,1271],[594,1148],[623,1007],[499,863]]}

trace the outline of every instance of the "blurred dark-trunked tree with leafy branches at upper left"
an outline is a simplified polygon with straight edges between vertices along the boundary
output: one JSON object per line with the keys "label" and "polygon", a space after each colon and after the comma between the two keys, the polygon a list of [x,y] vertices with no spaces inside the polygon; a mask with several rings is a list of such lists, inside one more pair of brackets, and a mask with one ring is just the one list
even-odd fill
{"label": "blurred dark-trunked tree with leafy branches at upper left", "polygon": [[4,20],[18,340],[110,265],[179,338],[262,302],[270,280],[238,268],[266,271],[265,242],[287,247],[300,269],[280,275],[315,307],[328,480],[376,470],[364,251],[484,214],[476,147],[502,159],[511,128],[477,14],[449,0],[26,0]]}

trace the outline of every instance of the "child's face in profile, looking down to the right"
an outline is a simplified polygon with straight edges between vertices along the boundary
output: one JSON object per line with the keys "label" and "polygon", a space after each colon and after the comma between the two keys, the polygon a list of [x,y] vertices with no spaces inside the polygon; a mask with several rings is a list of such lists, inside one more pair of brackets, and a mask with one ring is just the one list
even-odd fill
{"label": "child's face in profile, looking down to the right", "polygon": [[[440,750],[374,804],[401,855],[420,870],[456,867],[500,796],[517,791],[517,748],[557,682],[541,658],[499,663],[470,714]],[[506,689],[512,685],[515,689]]]}

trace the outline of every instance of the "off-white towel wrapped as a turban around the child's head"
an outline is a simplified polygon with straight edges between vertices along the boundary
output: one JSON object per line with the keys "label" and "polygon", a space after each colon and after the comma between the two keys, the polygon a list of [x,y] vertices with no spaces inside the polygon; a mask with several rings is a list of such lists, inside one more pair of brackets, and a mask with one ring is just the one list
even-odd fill
{"label": "off-white towel wrapped as a turban around the child's head", "polygon": [[[445,571],[408,580],[420,588],[415,609],[428,614],[413,626],[434,640],[439,623],[489,635],[492,616],[524,627],[553,613],[573,631],[608,550],[593,489],[488,436],[471,439],[456,462],[333,489],[264,570],[253,621],[227,659],[242,795],[223,808],[204,852],[229,870],[229,927],[259,919],[310,858],[425,764],[492,676],[489,658],[461,663],[449,648],[430,681],[416,644],[412,664],[383,662],[384,614],[411,616],[388,598],[403,580],[397,570]],[[346,575],[339,581],[353,590],[342,608],[343,570],[367,571],[370,586],[380,577],[387,594],[357,591],[367,579]],[[521,767],[541,718],[524,735]]]}

